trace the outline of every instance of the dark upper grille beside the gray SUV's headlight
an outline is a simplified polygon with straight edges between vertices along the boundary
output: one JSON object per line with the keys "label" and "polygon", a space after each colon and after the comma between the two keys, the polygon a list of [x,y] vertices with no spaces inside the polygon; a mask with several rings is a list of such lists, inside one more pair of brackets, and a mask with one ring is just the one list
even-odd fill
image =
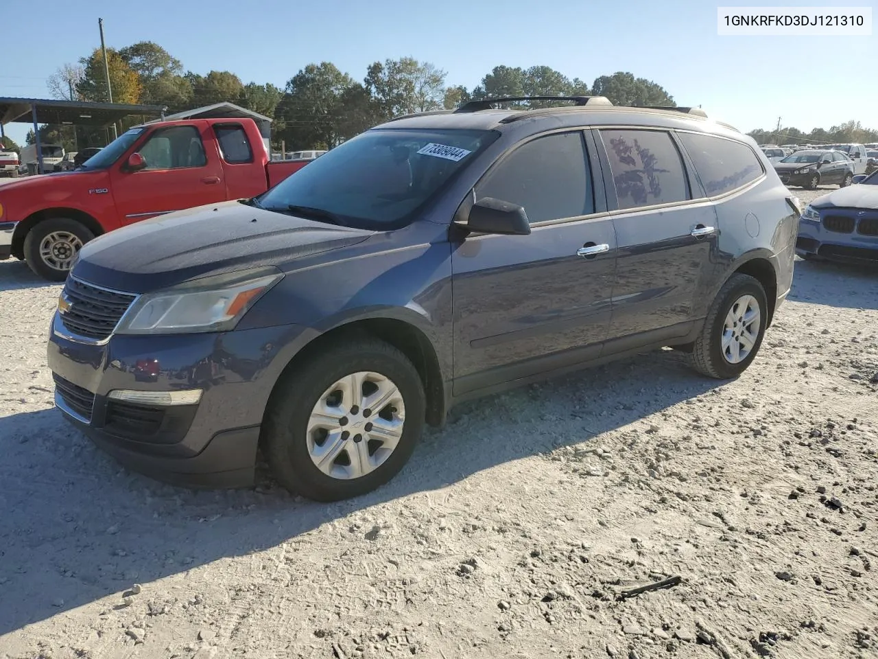
{"label": "dark upper grille beside the gray SUV's headlight", "polygon": [[67,278],[61,293],[69,307],[61,313],[64,327],[80,337],[101,340],[109,337],[136,295],[119,293]]}

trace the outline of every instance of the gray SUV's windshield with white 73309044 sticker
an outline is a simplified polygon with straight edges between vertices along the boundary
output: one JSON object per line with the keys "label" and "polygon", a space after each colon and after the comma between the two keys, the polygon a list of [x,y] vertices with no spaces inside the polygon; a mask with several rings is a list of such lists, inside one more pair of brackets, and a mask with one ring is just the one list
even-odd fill
{"label": "gray SUV's windshield with white 73309044 sticker", "polygon": [[372,129],[315,158],[256,202],[279,212],[290,206],[319,209],[323,219],[332,216],[350,227],[399,228],[498,136]]}

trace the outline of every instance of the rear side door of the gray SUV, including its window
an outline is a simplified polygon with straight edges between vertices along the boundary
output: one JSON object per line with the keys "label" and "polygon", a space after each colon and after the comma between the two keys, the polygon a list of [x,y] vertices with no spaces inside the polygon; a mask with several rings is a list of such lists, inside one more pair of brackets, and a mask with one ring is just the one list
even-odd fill
{"label": "rear side door of the gray SUV, including its window", "polygon": [[605,185],[618,242],[609,336],[627,350],[685,335],[716,250],[714,206],[689,177],[669,131],[625,127],[594,134],[608,163]]}

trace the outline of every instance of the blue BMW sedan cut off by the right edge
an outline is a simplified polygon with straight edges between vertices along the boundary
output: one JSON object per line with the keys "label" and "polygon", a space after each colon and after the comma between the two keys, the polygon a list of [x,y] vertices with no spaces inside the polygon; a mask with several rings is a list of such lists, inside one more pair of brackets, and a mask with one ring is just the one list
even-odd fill
{"label": "blue BMW sedan cut off by the right edge", "polygon": [[878,264],[878,171],[802,211],[795,253],[808,260]]}

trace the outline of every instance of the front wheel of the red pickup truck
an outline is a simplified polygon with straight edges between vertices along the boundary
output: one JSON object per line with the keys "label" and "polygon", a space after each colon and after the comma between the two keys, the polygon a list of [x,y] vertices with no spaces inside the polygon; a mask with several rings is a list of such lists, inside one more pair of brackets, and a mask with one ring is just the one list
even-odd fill
{"label": "front wheel of the red pickup truck", "polygon": [[81,222],[68,217],[43,220],[25,236],[25,261],[43,279],[64,281],[76,252],[94,237]]}

